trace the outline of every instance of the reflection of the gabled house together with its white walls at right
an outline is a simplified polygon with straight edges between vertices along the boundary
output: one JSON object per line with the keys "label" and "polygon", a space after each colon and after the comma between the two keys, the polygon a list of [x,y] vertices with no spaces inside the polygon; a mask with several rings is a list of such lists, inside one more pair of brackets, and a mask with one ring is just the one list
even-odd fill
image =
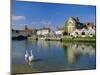
{"label": "reflection of the gabled house together with its white walls at right", "polygon": [[93,48],[92,46],[86,46],[85,44],[64,45],[63,48],[65,57],[67,58],[70,64],[75,63],[80,55],[95,55],[95,48]]}

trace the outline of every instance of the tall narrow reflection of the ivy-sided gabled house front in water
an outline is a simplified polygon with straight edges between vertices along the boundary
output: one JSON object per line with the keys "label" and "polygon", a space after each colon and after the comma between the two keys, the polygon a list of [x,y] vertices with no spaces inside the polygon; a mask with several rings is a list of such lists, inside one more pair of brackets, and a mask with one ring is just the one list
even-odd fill
{"label": "tall narrow reflection of the ivy-sided gabled house front in water", "polygon": [[65,58],[69,64],[74,64],[79,59],[79,54],[75,52],[75,45],[63,45]]}

